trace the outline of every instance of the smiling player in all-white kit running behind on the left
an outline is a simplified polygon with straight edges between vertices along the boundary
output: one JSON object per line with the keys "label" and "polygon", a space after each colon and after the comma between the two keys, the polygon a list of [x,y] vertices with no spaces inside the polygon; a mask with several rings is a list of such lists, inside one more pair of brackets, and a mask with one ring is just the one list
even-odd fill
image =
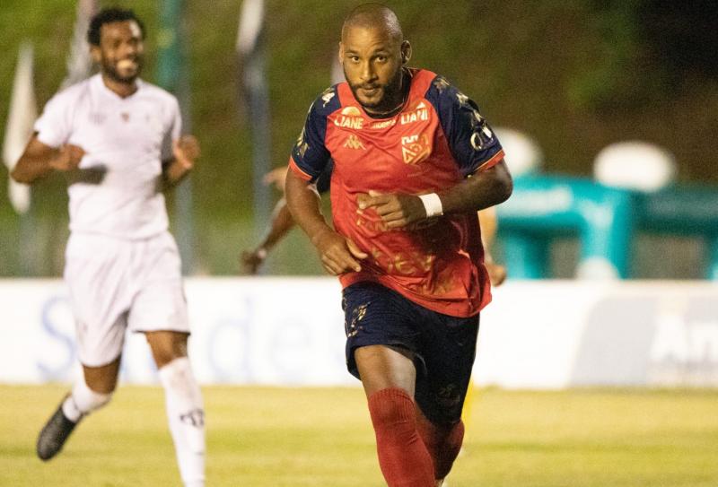
{"label": "smiling player in all-white kit running behind on the left", "polygon": [[38,456],[54,457],[77,423],[109,402],[129,329],[144,333],[152,349],[182,480],[203,486],[204,408],[162,195],[192,169],[197,140],[180,135],[175,97],[138,78],[144,26],[135,13],[102,10],[88,40],[100,74],[48,102],[12,174],[32,183],[60,172],[69,181],[65,279],[83,379],[40,431]]}

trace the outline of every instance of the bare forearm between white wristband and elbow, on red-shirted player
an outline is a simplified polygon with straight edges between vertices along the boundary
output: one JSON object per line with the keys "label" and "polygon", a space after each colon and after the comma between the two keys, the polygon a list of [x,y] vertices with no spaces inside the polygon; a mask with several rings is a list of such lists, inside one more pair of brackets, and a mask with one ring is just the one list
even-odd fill
{"label": "bare forearm between white wristband and elbow, on red-shirted player", "polygon": [[502,161],[440,192],[439,197],[443,213],[466,213],[503,203],[511,196],[512,189],[511,174]]}

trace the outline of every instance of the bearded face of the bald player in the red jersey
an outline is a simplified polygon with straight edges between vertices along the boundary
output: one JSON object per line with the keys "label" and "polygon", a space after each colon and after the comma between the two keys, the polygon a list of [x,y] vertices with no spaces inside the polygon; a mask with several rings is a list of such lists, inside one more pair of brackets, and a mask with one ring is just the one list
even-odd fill
{"label": "bearded face of the bald player in the red jersey", "polygon": [[[408,43],[406,43],[406,47]],[[402,99],[402,45],[381,27],[349,27],[339,47],[346,82],[365,109],[394,109]]]}

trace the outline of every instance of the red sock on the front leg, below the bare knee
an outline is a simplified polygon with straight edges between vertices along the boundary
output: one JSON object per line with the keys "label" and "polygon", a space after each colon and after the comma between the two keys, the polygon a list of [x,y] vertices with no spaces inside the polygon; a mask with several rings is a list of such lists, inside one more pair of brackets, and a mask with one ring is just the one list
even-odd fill
{"label": "red sock on the front leg, below the bare knee", "polygon": [[433,487],[432,459],[416,431],[414,401],[398,388],[369,397],[379,466],[389,487]]}

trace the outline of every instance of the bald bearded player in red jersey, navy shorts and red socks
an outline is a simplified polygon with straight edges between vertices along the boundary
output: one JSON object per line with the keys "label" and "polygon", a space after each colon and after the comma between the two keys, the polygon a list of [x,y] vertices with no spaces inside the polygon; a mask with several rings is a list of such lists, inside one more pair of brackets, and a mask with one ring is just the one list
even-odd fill
{"label": "bald bearded player in red jersey, navy shorts and red socks", "polygon": [[[342,28],[346,83],[314,101],[286,199],[344,287],[346,360],[360,378],[390,487],[434,487],[463,439],[461,405],[491,300],[476,212],[512,192],[477,105],[407,67],[396,15],[363,4]],[[311,184],[329,160],[332,229]]]}

